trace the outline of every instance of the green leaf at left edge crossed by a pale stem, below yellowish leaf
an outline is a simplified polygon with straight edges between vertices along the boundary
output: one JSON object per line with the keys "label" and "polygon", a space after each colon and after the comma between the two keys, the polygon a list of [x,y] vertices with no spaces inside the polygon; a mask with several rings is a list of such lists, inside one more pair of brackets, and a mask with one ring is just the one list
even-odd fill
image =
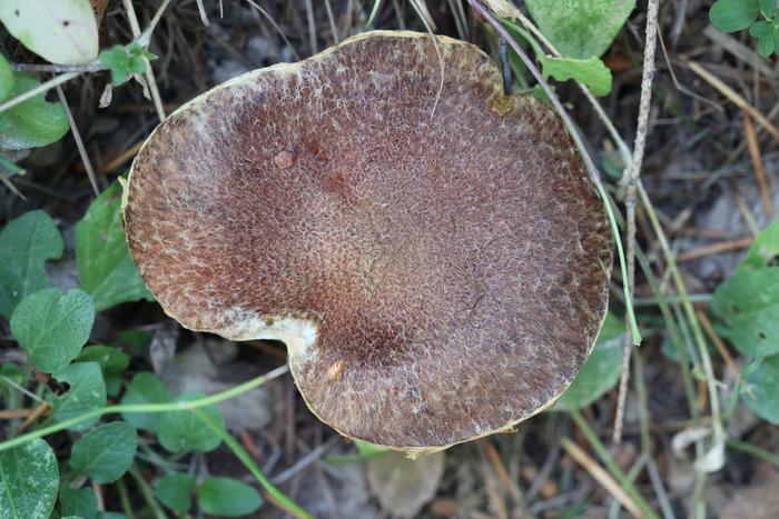
{"label": "green leaf at left edge crossed by a pale stem, below yellowish leaf", "polygon": [[[27,72],[14,72],[13,78],[9,98],[40,84]],[[60,140],[69,128],[62,104],[49,102],[39,93],[0,113],[0,149],[23,150],[50,144]]]}

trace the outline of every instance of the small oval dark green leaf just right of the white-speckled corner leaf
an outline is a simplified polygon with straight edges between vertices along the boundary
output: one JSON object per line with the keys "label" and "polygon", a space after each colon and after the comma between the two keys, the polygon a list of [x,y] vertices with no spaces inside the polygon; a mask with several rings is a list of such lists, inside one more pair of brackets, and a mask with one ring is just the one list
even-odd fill
{"label": "small oval dark green leaf just right of the white-speckled corner leaf", "polygon": [[79,438],[70,451],[70,467],[96,483],[112,483],[132,465],[138,448],[135,427],[114,421]]}

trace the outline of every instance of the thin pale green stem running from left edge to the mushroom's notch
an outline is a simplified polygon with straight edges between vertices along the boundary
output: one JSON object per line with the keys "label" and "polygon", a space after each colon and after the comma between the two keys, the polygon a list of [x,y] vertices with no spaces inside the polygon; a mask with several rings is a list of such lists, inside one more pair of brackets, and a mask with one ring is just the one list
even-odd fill
{"label": "thin pale green stem running from left edge to the mushroom's notch", "polygon": [[201,407],[206,406],[211,406],[214,403],[219,403],[224,400],[227,400],[233,397],[237,397],[238,395],[241,395],[250,389],[254,389],[256,387],[259,387],[267,382],[268,380],[275,379],[284,373],[286,373],[289,370],[287,366],[282,366],[279,368],[274,369],[273,371],[269,371],[263,376],[259,376],[257,378],[254,378],[249,380],[248,382],[244,382],[241,385],[238,385],[234,388],[227,389],[225,391],[218,392],[216,395],[211,395],[209,397],[204,397],[199,398],[197,400],[191,400],[191,401],[180,401],[180,402],[170,402],[170,403],[131,403],[131,405],[119,405],[119,406],[108,406],[103,407],[100,409],[95,409],[89,412],[85,412],[83,415],[79,415],[78,417],[71,418],[69,420],[61,421],[59,423],[55,423],[53,426],[49,427],[43,427],[41,429],[28,432],[22,436],[18,436],[16,438],[11,438],[10,440],[6,440],[3,442],[0,442],[0,452],[3,450],[12,449],[14,447],[18,447],[20,445],[27,443],[28,441],[34,439],[34,438],[43,438],[49,435],[53,435],[55,432],[59,432],[66,429],[70,429],[73,426],[77,426],[79,423],[82,423],[87,420],[90,420],[92,418],[99,418],[103,415],[111,415],[111,413],[118,413],[118,412],[177,412],[177,411],[188,411],[193,409],[199,409]]}

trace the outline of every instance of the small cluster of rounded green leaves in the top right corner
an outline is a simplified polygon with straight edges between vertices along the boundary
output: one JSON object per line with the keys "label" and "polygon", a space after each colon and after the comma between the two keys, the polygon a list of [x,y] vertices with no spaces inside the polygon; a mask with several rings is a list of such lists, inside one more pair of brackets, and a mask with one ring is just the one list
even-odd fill
{"label": "small cluster of rounded green leaves in the top right corner", "polygon": [[779,3],[776,0],[717,0],[709,19],[722,32],[749,29],[763,58],[779,52]]}

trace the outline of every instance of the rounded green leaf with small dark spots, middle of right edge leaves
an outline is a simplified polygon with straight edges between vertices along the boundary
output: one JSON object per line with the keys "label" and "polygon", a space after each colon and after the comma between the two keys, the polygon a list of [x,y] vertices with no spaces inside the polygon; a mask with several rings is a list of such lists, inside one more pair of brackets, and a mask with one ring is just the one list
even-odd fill
{"label": "rounded green leaf with small dark spots, middle of right edge leaves", "polygon": [[779,267],[737,269],[714,291],[711,307],[736,349],[752,357],[779,353]]}

